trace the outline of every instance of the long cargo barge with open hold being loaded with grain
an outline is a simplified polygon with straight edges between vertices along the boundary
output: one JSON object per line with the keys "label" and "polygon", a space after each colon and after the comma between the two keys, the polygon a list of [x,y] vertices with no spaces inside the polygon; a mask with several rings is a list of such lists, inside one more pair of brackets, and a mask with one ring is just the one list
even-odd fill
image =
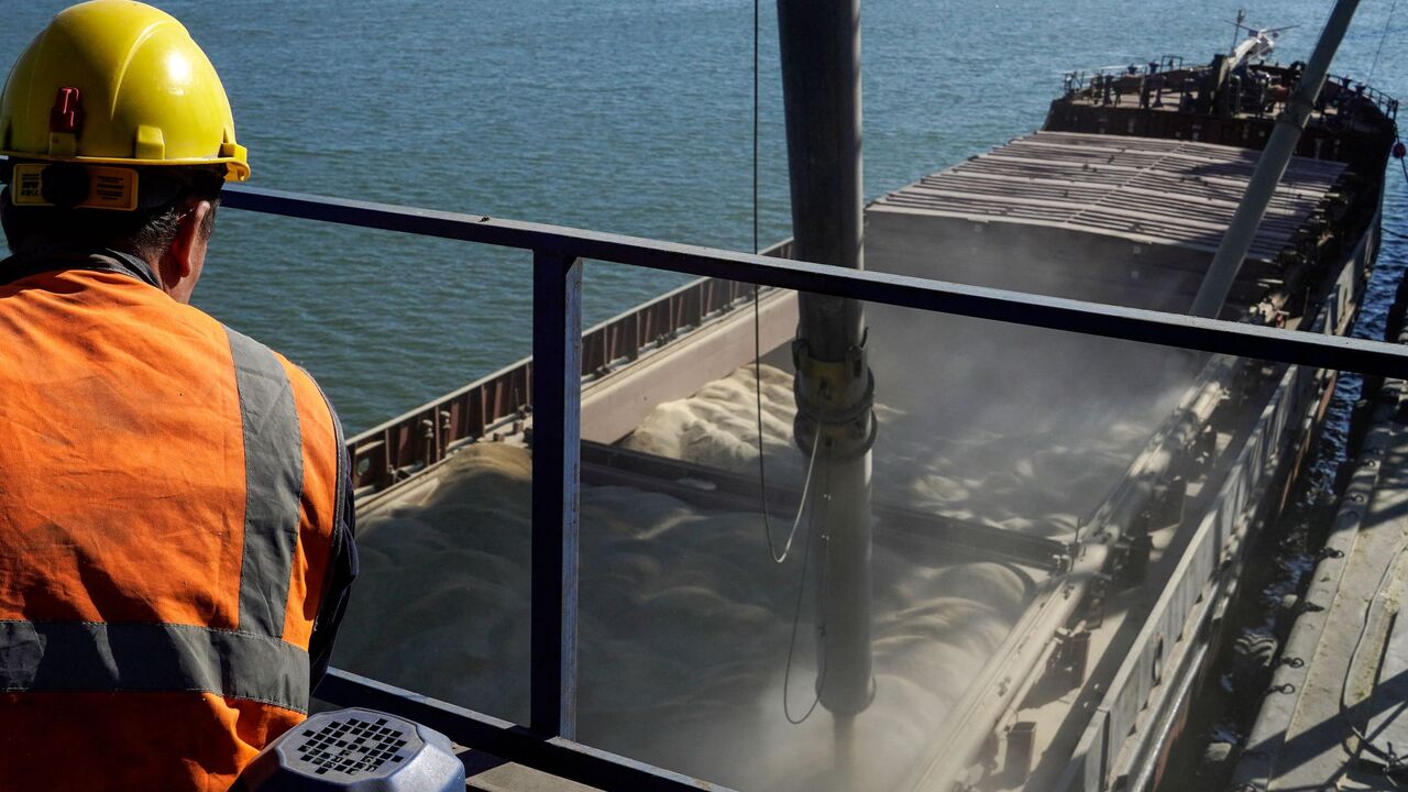
{"label": "long cargo barge with open hold being loaded with grain", "polygon": [[[1295,79],[1222,56],[1071,75],[1042,131],[873,202],[867,268],[1183,311]],[[1328,83],[1224,318],[1346,333],[1395,113]],[[798,299],[724,280],[582,338],[576,738],[745,789],[1157,786],[1336,372],[867,310],[876,682],[848,743],[801,717],[825,685],[817,540],[773,564],[765,534],[818,483],[791,437]],[[527,720],[532,379],[349,441],[366,572],[338,667]]]}

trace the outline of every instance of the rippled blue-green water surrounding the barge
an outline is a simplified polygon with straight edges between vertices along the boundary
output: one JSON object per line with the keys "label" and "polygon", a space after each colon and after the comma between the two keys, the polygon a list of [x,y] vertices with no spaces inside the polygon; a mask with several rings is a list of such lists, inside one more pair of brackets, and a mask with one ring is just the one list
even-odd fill
{"label": "rippled blue-green water surrounding the barge", "polygon": [[[11,61],[63,0],[6,0]],[[1242,3],[1301,25],[1329,3]],[[1066,69],[1205,59],[1236,0],[956,3],[863,11],[866,193],[876,196],[1041,125]],[[746,249],[752,244],[752,41],[746,0],[169,1],[220,69],[253,182]],[[1408,8],[1363,3],[1335,62],[1408,94]],[[788,233],[776,8],[763,3],[760,238]],[[1402,179],[1390,228],[1408,231]],[[1388,247],[1401,245],[1390,240]],[[593,265],[586,318],[679,283]],[[203,309],[307,366],[351,431],[522,355],[522,254],[221,214]]]}

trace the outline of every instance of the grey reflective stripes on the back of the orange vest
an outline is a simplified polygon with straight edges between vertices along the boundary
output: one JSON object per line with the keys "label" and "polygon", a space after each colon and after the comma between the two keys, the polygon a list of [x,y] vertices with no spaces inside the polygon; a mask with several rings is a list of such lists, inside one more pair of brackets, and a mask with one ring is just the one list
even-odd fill
{"label": "grey reflective stripes on the back of the orange vest", "polygon": [[200,691],[307,712],[308,652],[282,640],[303,495],[298,412],[273,352],[225,331],[245,458],[239,629],[0,620],[0,691]]}

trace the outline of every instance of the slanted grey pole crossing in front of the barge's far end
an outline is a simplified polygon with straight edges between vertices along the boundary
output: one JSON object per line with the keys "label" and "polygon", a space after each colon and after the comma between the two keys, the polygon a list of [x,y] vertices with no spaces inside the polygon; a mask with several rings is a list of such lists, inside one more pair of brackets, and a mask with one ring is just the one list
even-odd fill
{"label": "slanted grey pole crossing in front of the barge's far end", "polygon": [[1349,21],[1354,17],[1357,7],[1359,0],[1338,0],[1335,3],[1335,10],[1331,11],[1325,30],[1321,31],[1319,41],[1315,42],[1315,52],[1311,54],[1311,61],[1305,65],[1295,90],[1286,100],[1286,109],[1276,120],[1276,128],[1271,131],[1271,138],[1266,141],[1262,158],[1256,161],[1252,180],[1247,182],[1246,193],[1242,194],[1242,203],[1236,207],[1232,224],[1228,225],[1222,244],[1218,245],[1218,252],[1212,256],[1212,265],[1208,266],[1208,273],[1198,287],[1198,295],[1193,299],[1190,314],[1217,318],[1222,310],[1222,303],[1226,302],[1228,292],[1232,290],[1232,282],[1236,280],[1236,273],[1242,269],[1242,259],[1252,249],[1256,228],[1262,224],[1267,204],[1271,203],[1276,185],[1286,175],[1286,166],[1290,163],[1291,155],[1295,154],[1301,131],[1305,130],[1305,124],[1315,110],[1315,100],[1325,86],[1329,63],[1335,59],[1335,51],[1339,49],[1339,42],[1345,38],[1345,30],[1349,28]]}

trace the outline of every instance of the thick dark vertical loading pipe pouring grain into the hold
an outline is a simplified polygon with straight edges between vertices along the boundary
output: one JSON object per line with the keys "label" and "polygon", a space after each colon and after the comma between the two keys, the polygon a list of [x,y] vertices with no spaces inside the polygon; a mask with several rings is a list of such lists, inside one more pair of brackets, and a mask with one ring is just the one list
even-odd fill
{"label": "thick dark vertical loading pipe pouring grain into the hold", "polygon": [[[863,268],[860,0],[779,0],[796,258]],[[870,445],[874,378],[859,302],[798,295],[794,433],[817,454],[821,705],[841,731],[870,705]],[[817,530],[819,528],[819,530]]]}

